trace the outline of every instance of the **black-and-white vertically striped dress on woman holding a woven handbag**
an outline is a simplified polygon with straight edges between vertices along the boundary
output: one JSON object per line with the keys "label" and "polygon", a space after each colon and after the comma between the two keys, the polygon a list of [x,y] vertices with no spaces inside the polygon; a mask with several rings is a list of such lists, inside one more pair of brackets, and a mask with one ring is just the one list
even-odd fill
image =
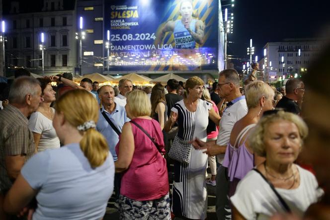
{"label": "black-and-white vertically striped dress on woman holding a woven handbag", "polygon": [[[206,142],[206,127],[208,125],[209,110],[212,104],[199,100],[197,110],[190,112],[185,108],[183,100],[177,102],[171,111],[178,113],[177,136],[190,140],[197,137]],[[193,120],[195,131],[193,131]],[[174,162],[174,182],[172,188],[171,211],[176,217],[188,219],[206,219],[207,191],[205,172],[207,168],[207,154],[192,148],[189,164]]]}

